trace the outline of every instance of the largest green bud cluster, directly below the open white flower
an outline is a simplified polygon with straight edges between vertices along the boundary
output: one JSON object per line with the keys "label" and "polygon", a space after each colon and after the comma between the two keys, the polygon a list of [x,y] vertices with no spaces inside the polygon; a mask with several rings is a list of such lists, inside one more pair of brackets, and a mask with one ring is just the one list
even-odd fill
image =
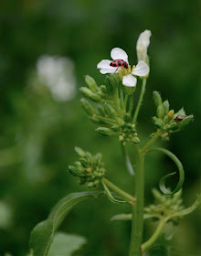
{"label": "largest green bud cluster, directly below the open white flower", "polygon": [[121,107],[119,102],[117,93],[121,80],[118,75],[107,76],[106,85],[100,87],[90,76],[86,76],[85,81],[88,87],[81,87],[80,92],[98,103],[91,104],[84,98],[80,103],[90,120],[100,125],[96,131],[105,136],[118,135],[123,145],[128,142],[139,144],[140,139],[137,137],[135,124],[132,123],[131,113],[126,111],[126,106]]}

